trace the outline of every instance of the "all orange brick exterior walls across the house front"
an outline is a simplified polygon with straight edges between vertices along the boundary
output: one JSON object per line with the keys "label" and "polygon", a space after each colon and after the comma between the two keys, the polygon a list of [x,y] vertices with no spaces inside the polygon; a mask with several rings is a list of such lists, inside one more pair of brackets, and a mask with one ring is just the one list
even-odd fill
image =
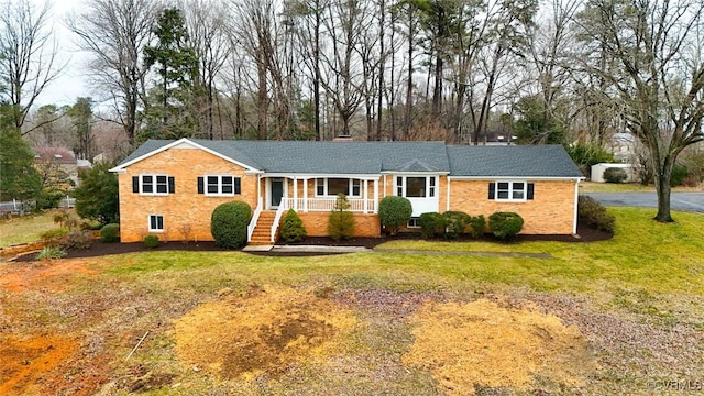
{"label": "all orange brick exterior walls across the house front", "polygon": [[[172,147],[127,167],[119,175],[120,182],[120,233],[122,242],[138,242],[148,234],[148,216],[164,217],[162,241],[198,240],[211,241],[210,217],[215,208],[227,201],[242,200],[254,210],[257,195],[266,199],[266,183],[257,175],[245,174],[245,169],[229,161],[198,148]],[[147,196],[132,193],[132,176],[140,174],[166,174],[175,178],[176,193],[166,196]],[[198,177],[205,175],[233,175],[241,178],[242,194],[233,197],[211,197],[198,194]],[[448,183],[450,188],[450,210],[461,210],[469,215],[490,215],[496,211],[515,211],[524,220],[521,233],[571,234],[574,221],[574,182],[572,180],[528,180],[535,184],[532,200],[525,202],[502,202],[490,200],[486,180],[452,179],[440,176],[437,186],[438,211],[448,208]],[[294,196],[293,180],[287,180],[287,196]],[[298,180],[298,196],[304,196],[304,180]],[[373,182],[367,184],[370,199],[374,198]],[[308,179],[308,197],[316,194],[315,179]],[[394,176],[382,175],[378,182],[378,198],[394,195]],[[327,235],[329,212],[302,212],[308,235]],[[380,237],[381,224],[377,215],[354,213],[356,237]],[[418,231],[418,229],[411,229]],[[155,233],[155,232],[153,232]]]}

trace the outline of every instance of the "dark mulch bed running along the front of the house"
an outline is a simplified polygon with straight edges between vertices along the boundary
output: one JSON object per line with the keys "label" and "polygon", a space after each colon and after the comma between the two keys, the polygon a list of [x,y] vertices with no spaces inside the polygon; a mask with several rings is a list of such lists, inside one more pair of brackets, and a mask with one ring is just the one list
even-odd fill
{"label": "dark mulch bed running along the front of the house", "polygon": [[[595,242],[595,241],[605,241],[613,237],[613,234],[593,230],[586,227],[581,227],[578,229],[578,234],[580,238],[573,235],[518,235],[513,241],[499,241],[492,234],[485,234],[484,238],[480,239],[480,241],[485,242],[495,242],[495,243],[520,243],[528,241],[559,241],[559,242]],[[388,241],[395,240],[417,240],[420,239],[420,234],[417,233],[402,233],[398,235],[383,235],[382,238],[352,238],[349,240],[333,241],[328,237],[309,237],[306,240],[298,243],[290,243],[292,245],[326,245],[326,246],[364,246],[367,249],[374,249],[376,245],[382,244]],[[448,241],[444,239],[437,239],[437,241]],[[470,237],[461,237],[450,241],[458,242],[471,242],[476,241],[471,239]],[[285,244],[279,242],[280,244]],[[76,250],[69,251],[67,258],[74,257],[95,257],[102,256],[108,254],[122,254],[122,253],[132,253],[132,252],[160,252],[160,251],[189,251],[189,252],[213,252],[213,251],[227,251],[227,249],[219,248],[215,244],[215,242],[162,242],[156,249],[147,249],[144,246],[142,242],[132,242],[132,243],[106,243],[102,241],[96,241],[89,249],[86,250]],[[287,255],[287,256],[305,256],[305,255],[320,255],[321,253],[304,253],[304,252],[294,252],[294,253],[282,253],[282,252],[253,252],[257,255]],[[38,253],[28,254],[18,257],[15,261],[20,262],[29,262],[36,260],[36,255]],[[336,254],[336,253],[332,253]]]}

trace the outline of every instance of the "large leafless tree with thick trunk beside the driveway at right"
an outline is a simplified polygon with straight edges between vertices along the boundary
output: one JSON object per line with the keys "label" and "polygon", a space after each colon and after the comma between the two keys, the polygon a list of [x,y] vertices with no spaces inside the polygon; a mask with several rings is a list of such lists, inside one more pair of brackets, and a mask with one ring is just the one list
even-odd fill
{"label": "large leafless tree with thick trunk beside the driveway at right", "polygon": [[703,14],[702,1],[592,0],[579,19],[585,50],[598,45],[619,64],[618,73],[584,66],[614,88],[628,130],[652,160],[661,222],[673,221],[678,155],[704,140],[704,62],[690,51],[701,45]]}

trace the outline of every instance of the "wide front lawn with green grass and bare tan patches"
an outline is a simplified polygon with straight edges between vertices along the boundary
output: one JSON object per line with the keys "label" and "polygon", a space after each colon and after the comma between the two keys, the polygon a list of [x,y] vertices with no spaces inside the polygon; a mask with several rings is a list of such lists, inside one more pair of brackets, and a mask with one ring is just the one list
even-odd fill
{"label": "wide front lawn with green grass and bare tan patches", "polygon": [[[617,218],[616,235],[603,242],[396,241],[378,246],[547,253],[547,258],[156,251],[0,264],[6,314],[0,340],[11,330],[76,340],[77,352],[56,375],[40,375],[46,388],[29,388],[38,393],[69,394],[76,391],[72,384],[84,384],[88,393],[117,395],[437,395],[472,388],[476,394],[650,395],[664,381],[701,381],[704,217],[675,212],[676,223],[660,224],[648,209],[609,211]],[[26,290],[10,284],[18,277]],[[487,307],[496,315],[480,315]],[[417,312],[427,315],[425,322]],[[570,334],[578,333],[586,350],[546,355],[562,362],[562,374],[536,363],[528,385],[462,383],[462,365],[438,371],[462,359],[443,348],[435,346],[435,354],[430,350],[426,365],[408,363],[409,351],[420,345],[419,331],[432,328],[440,320],[432,315],[440,312],[458,315],[441,317],[444,342],[475,351],[474,358],[486,362],[482,366],[512,358],[490,358],[482,354],[484,348],[463,343],[465,337],[477,337],[468,327],[473,321],[482,331],[498,329],[485,340],[487,349],[492,340],[498,342],[492,337],[502,334],[507,334],[505,349],[520,350],[521,342],[569,345]],[[512,333],[514,320],[527,330]],[[125,360],[146,331],[148,337]],[[65,351],[57,340],[55,350]],[[22,345],[16,341],[8,350],[22,351]],[[32,362],[36,349],[28,351],[18,354],[25,356],[21,362]],[[513,372],[504,373],[506,378]],[[504,377],[503,372],[490,374]],[[87,385],[95,378],[103,380]]]}

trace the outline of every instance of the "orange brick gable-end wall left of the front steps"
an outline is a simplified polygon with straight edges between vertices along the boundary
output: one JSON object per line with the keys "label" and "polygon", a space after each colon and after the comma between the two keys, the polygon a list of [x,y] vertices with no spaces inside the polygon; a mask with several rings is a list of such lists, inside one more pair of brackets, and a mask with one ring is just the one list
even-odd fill
{"label": "orange brick gable-end wall left of the front steps", "polygon": [[[132,176],[140,174],[173,176],[176,193],[167,196],[132,193]],[[206,174],[240,177],[242,194],[233,197],[198,194],[198,177]],[[256,179],[256,175],[245,174],[243,167],[196,148],[173,147],[134,163],[119,175],[121,241],[142,241],[148,233],[158,235],[162,241],[212,241],[210,217],[215,208],[222,202],[242,200],[254,210]],[[164,232],[148,232],[150,215],[164,216]]]}

